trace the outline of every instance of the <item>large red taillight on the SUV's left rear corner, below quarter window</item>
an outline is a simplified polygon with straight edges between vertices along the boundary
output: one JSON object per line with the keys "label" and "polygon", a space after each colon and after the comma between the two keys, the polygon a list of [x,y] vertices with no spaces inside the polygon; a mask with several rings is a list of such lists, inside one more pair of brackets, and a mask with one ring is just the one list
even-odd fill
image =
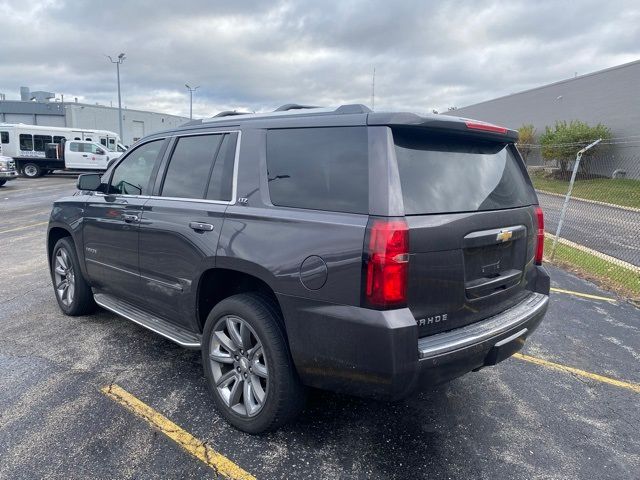
{"label": "large red taillight on the SUV's left rear corner, below quarter window", "polygon": [[407,304],[409,227],[404,218],[371,218],[364,243],[363,297],[367,306]]}

